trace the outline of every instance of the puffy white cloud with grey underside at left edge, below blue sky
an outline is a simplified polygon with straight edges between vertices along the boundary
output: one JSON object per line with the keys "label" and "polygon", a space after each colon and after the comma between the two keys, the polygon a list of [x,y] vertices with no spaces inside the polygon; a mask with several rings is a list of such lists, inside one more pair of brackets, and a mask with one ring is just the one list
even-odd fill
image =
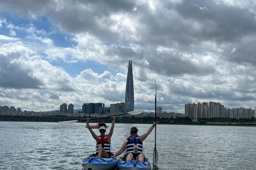
{"label": "puffy white cloud with grey underside at left edge, below blue sky", "polygon": [[31,53],[20,41],[0,47],[0,88],[75,90],[67,73]]}

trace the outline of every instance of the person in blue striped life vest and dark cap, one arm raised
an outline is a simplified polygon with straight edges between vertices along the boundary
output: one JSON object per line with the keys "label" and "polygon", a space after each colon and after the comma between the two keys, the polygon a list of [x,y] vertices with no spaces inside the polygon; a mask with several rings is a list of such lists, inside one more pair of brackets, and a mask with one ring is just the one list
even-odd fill
{"label": "person in blue striped life vest and dark cap, one arm raised", "polygon": [[143,140],[145,140],[149,133],[154,129],[154,127],[157,125],[157,122],[154,122],[152,126],[148,129],[148,131],[142,135],[138,135],[138,129],[137,127],[132,127],[130,132],[130,137],[127,138],[127,140],[124,142],[121,149],[119,149],[114,156],[111,156],[111,158],[114,158],[120,154],[125,152],[125,160],[140,160],[144,162],[144,154],[143,154]]}

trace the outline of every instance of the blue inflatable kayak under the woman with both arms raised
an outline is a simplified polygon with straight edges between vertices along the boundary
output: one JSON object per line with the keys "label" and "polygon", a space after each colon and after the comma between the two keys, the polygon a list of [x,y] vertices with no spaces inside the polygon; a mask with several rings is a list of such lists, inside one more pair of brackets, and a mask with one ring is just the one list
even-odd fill
{"label": "blue inflatable kayak under the woman with both arms raised", "polygon": [[100,158],[95,156],[87,157],[83,160],[82,166],[84,170],[108,170],[117,164],[117,158]]}

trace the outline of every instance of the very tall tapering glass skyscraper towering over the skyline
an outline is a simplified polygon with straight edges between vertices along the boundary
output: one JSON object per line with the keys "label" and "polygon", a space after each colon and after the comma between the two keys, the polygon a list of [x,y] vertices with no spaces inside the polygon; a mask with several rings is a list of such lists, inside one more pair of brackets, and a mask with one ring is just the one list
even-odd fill
{"label": "very tall tapering glass skyscraper towering over the skyline", "polygon": [[134,111],[134,89],[133,89],[133,75],[132,75],[131,60],[129,60],[127,80],[126,80],[125,106],[126,106],[126,112]]}

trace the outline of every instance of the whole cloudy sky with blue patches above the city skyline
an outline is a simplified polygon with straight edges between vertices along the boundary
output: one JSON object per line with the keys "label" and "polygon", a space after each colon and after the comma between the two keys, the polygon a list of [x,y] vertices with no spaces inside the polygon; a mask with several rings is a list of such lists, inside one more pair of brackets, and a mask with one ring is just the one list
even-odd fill
{"label": "whole cloudy sky with blue patches above the city skyline", "polygon": [[0,1],[0,106],[124,102],[129,60],[135,109],[254,109],[256,2]]}

